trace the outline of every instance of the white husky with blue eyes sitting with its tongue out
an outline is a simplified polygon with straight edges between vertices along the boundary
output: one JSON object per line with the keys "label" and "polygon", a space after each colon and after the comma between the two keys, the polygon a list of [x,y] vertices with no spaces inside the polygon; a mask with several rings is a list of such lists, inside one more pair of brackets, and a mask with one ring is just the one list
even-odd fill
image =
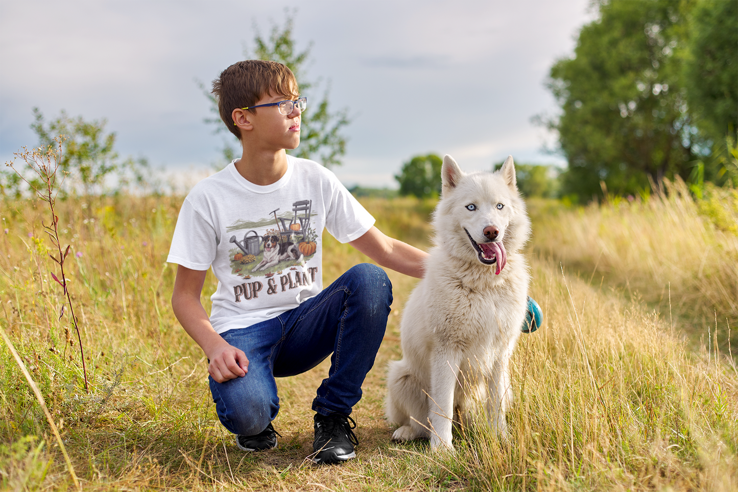
{"label": "white husky with blue eyes sitting with its tongue out", "polygon": [[530,273],[520,253],[531,233],[512,156],[494,173],[441,168],[435,246],[405,306],[402,360],[387,374],[393,440],[451,444],[452,419],[484,402],[489,426],[507,436],[509,361],[525,319]]}

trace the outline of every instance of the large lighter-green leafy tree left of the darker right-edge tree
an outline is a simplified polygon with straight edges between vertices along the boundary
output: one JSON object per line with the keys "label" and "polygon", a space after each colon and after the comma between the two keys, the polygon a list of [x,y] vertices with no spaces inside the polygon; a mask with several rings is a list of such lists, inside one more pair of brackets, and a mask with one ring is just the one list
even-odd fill
{"label": "large lighter-green leafy tree left of the darker right-edge tree", "polygon": [[[599,0],[573,58],[551,68],[561,114],[549,120],[569,167],[565,194],[635,194],[649,180],[688,179],[707,153],[681,81],[689,0]],[[712,172],[705,169],[706,177]]]}

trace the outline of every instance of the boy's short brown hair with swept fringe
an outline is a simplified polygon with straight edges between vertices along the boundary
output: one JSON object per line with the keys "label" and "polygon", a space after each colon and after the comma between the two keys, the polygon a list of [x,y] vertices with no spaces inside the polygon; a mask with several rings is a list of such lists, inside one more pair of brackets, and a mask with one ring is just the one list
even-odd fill
{"label": "boy's short brown hair with swept fringe", "polygon": [[229,66],[213,81],[221,120],[239,140],[241,129],[233,124],[233,110],[253,106],[267,94],[295,98],[300,95],[292,70],[276,61],[244,60]]}

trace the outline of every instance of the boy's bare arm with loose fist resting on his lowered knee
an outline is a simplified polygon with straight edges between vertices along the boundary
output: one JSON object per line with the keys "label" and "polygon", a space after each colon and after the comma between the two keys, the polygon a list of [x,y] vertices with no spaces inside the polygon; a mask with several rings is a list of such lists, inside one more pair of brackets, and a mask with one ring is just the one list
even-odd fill
{"label": "boy's bare arm with loose fist resting on his lowered knee", "polygon": [[210,318],[200,304],[206,274],[207,270],[190,270],[179,265],[174,280],[172,309],[184,331],[210,359],[207,372],[218,383],[224,383],[235,377],[244,377],[248,372],[249,360],[244,351],[228,344],[210,324]]}

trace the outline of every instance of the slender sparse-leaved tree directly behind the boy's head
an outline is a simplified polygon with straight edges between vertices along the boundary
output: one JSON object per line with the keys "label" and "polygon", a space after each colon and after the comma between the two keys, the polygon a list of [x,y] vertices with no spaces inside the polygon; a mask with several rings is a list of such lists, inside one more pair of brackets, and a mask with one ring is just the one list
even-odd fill
{"label": "slender sparse-leaved tree directly behind the boy's head", "polygon": [[[341,157],[346,152],[346,137],[341,133],[341,130],[348,123],[351,123],[348,118],[348,109],[340,109],[337,112],[330,111],[328,102],[330,84],[326,85],[322,97],[312,96],[317,91],[317,87],[320,86],[320,81],[311,81],[305,75],[305,64],[309,59],[312,44],[309,44],[301,52],[297,50],[292,36],[293,24],[293,15],[287,13],[283,27],[273,25],[269,38],[263,38],[258,27],[255,26],[254,42],[256,47],[253,53],[244,50],[244,57],[278,61],[285,64],[297,78],[301,94],[308,97],[308,109],[303,113],[300,124],[300,146],[288,151],[288,153],[295,157],[317,160],[325,167],[341,165]],[[218,126],[215,130],[216,133],[221,131],[230,133],[224,127],[218,114],[218,101],[215,100],[203,83],[200,82],[199,86],[203,89],[207,98],[210,99],[210,111],[215,114],[215,117],[206,118],[206,123],[215,123]],[[226,162],[235,159],[236,154],[235,146],[230,143],[224,144],[223,157]]]}

